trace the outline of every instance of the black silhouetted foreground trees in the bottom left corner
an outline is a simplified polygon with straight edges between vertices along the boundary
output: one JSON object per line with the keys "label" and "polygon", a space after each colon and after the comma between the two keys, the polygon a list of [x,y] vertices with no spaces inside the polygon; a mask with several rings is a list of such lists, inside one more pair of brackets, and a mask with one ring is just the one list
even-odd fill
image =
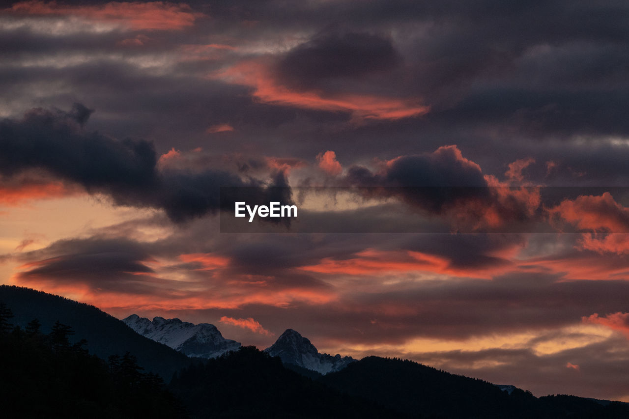
{"label": "black silhouetted foreground trees in the bottom left corner", "polygon": [[126,353],[108,361],[86,341],[70,344],[69,325],[41,332],[39,320],[14,327],[0,303],[0,415],[4,418],[186,418],[162,379]]}

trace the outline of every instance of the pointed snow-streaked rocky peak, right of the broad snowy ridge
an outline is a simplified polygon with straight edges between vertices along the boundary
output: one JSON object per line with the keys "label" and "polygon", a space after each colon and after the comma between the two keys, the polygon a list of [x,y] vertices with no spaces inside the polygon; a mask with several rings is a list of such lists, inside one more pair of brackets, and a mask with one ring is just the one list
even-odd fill
{"label": "pointed snow-streaked rocky peak, right of the broad snowy ridge", "polygon": [[340,371],[355,361],[352,357],[341,357],[338,354],[335,356],[320,354],[315,345],[292,329],[282,333],[276,343],[264,352],[280,357],[284,364],[293,364],[321,374]]}

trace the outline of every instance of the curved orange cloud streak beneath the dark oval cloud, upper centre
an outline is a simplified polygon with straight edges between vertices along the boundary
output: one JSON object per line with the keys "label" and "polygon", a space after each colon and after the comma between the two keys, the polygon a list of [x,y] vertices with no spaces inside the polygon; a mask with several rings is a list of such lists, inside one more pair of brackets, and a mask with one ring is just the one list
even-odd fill
{"label": "curved orange cloud streak beneath the dark oval cloud, upper centre", "polygon": [[226,70],[209,75],[232,84],[253,87],[253,96],[265,103],[296,106],[298,108],[345,111],[360,120],[399,120],[423,115],[429,106],[418,106],[412,101],[360,94],[324,96],[316,91],[294,91],[281,86],[261,60],[248,60]]}

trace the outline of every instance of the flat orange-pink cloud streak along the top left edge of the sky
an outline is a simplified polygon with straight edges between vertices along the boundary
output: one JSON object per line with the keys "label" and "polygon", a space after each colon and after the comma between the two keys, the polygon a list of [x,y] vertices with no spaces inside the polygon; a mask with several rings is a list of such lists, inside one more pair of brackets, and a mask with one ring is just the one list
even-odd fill
{"label": "flat orange-pink cloud streak along the top left edge of the sky", "polygon": [[187,4],[164,1],[117,2],[94,6],[70,6],[56,1],[22,1],[4,9],[14,13],[37,15],[71,15],[89,20],[118,24],[131,30],[181,30],[194,25],[204,16],[195,13]]}

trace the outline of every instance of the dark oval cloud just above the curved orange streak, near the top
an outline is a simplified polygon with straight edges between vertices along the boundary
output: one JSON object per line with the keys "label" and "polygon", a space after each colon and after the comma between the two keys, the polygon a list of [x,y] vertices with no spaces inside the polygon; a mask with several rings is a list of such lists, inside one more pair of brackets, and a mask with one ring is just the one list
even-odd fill
{"label": "dark oval cloud just above the curved orange streak, near the top", "polygon": [[391,40],[370,33],[321,33],[292,48],[277,64],[281,81],[312,88],[328,79],[356,79],[395,67]]}

